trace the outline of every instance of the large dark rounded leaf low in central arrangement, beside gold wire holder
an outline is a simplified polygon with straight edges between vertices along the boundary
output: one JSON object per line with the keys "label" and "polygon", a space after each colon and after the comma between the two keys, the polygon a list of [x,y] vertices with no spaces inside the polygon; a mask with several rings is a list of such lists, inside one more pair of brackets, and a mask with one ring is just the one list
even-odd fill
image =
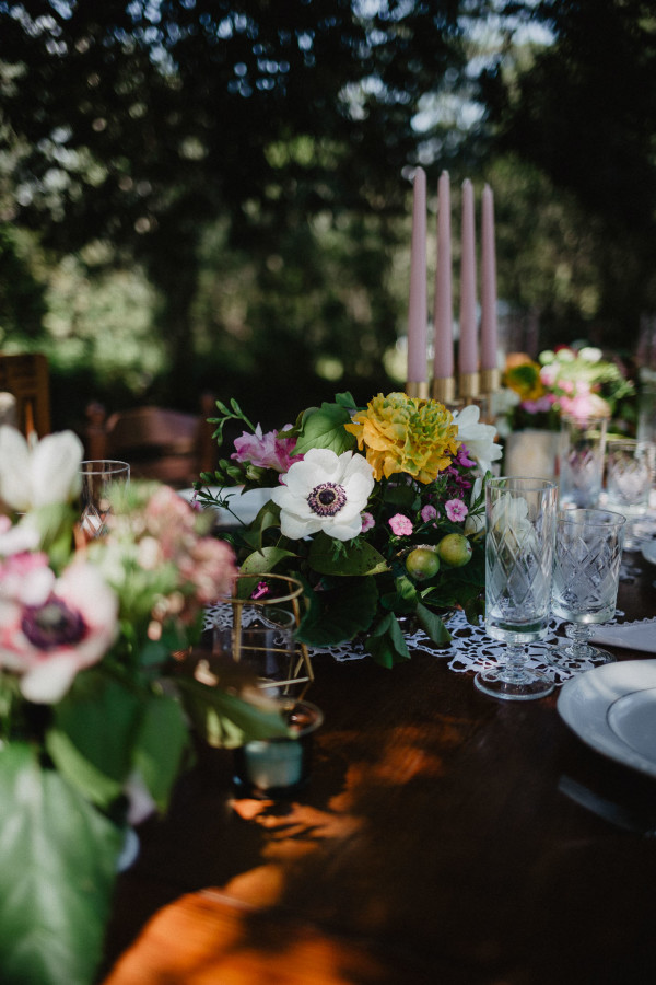
{"label": "large dark rounded leaf low in central arrangement, beside gold wire holder", "polygon": [[329,647],[368,629],[376,614],[378,590],[373,577],[348,578],[339,579],[335,588],[312,592],[311,596],[311,607],[295,638],[311,646]]}

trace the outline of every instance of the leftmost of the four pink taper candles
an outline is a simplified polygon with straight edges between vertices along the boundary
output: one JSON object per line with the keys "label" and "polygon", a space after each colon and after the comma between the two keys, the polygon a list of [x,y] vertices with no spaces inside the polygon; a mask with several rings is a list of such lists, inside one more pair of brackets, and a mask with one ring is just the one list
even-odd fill
{"label": "leftmost of the four pink taper candles", "polygon": [[424,383],[426,367],[426,173],[414,172],[410,303],[408,306],[408,382]]}

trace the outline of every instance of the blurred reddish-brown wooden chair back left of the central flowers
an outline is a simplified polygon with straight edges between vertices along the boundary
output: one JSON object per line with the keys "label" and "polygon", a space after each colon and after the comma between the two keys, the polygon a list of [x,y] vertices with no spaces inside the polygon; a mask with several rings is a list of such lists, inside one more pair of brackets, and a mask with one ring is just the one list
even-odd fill
{"label": "blurred reddish-brown wooden chair back left of the central flowers", "polygon": [[107,417],[102,404],[86,408],[87,459],[119,459],[134,478],[150,478],[175,488],[189,487],[201,472],[213,472],[218,460],[213,425],[214,397],[201,398],[200,414],[165,407],[132,407]]}

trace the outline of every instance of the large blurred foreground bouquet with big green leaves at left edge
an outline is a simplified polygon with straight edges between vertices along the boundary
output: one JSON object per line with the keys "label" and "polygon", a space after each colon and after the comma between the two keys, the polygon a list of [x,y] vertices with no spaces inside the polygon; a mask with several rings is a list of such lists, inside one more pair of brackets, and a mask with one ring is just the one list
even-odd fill
{"label": "large blurred foreground bouquet with big green leaves at left edge", "polygon": [[[126,825],[164,810],[212,707],[233,743],[285,734],[172,653],[232,591],[234,556],[172,489],[130,484],[78,526],[82,445],[0,428],[0,980],[87,985]],[[165,679],[175,682],[175,691]]]}

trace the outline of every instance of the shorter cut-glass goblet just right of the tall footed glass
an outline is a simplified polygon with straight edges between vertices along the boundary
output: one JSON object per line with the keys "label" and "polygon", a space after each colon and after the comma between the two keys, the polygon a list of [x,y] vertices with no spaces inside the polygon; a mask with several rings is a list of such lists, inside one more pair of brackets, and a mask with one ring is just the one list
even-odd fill
{"label": "shorter cut-glass goblet just right of the tall footed glass", "polygon": [[612,618],[618,598],[626,519],[610,510],[562,510],[557,519],[551,607],[567,619],[570,639],[554,647],[549,662],[575,673],[611,663],[614,657],[591,647],[590,626]]}

